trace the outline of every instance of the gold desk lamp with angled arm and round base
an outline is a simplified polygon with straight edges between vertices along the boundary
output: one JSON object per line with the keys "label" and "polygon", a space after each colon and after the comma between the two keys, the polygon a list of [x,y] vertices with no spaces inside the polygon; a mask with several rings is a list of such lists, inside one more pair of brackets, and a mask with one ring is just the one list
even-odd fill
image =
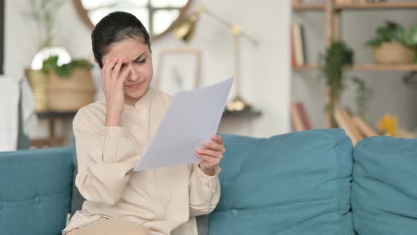
{"label": "gold desk lamp with angled arm and round base", "polygon": [[232,101],[228,101],[226,104],[226,110],[229,112],[232,111],[242,111],[242,110],[252,110],[252,105],[249,105],[243,98],[240,92],[240,38],[246,38],[249,42],[252,42],[254,45],[258,45],[259,42],[252,38],[252,36],[247,33],[242,32],[239,26],[234,25],[226,21],[225,19],[217,16],[209,9],[204,8],[203,6],[199,7],[194,13],[191,13],[189,16],[181,18],[177,23],[172,27],[172,33],[174,33],[177,38],[189,42],[192,35],[195,32],[196,23],[199,21],[201,13],[205,13],[207,16],[214,18],[218,23],[226,25],[230,28],[230,32],[234,36],[234,46],[235,46],[235,88],[236,95]]}

